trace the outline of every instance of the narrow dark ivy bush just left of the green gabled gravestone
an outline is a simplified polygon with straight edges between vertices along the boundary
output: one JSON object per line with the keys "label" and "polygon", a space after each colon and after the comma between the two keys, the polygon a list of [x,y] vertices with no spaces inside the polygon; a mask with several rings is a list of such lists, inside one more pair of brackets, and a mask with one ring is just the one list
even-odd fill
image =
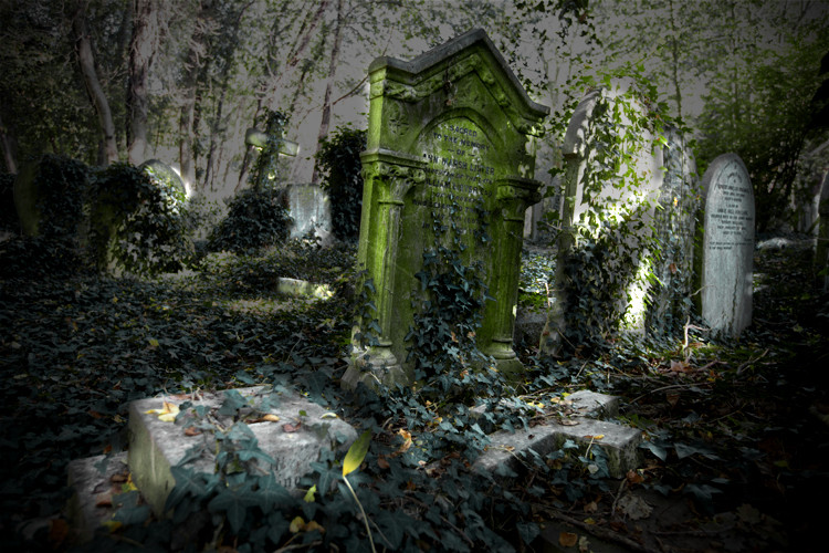
{"label": "narrow dark ivy bush just left of the green gabled gravestone", "polygon": [[330,200],[334,234],[342,240],[359,236],[364,149],[366,132],[344,126],[337,127],[330,138],[323,138],[316,155],[318,168],[326,175],[321,186]]}

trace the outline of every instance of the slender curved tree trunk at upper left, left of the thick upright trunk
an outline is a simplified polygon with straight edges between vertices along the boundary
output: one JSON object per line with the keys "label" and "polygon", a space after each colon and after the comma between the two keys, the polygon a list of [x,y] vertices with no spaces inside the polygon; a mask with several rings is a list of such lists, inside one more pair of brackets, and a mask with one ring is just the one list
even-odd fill
{"label": "slender curved tree trunk at upper left, left of the thick upright trunk", "polygon": [[95,71],[95,56],[92,52],[90,32],[86,29],[86,0],[77,1],[76,11],[72,18],[72,29],[75,33],[77,63],[84,76],[90,101],[98,114],[101,132],[104,135],[103,159],[98,159],[98,163],[101,165],[109,165],[118,160],[118,146],[115,142],[115,123],[113,122],[113,113],[109,109],[109,102],[106,100],[106,94],[104,94],[97,72]]}

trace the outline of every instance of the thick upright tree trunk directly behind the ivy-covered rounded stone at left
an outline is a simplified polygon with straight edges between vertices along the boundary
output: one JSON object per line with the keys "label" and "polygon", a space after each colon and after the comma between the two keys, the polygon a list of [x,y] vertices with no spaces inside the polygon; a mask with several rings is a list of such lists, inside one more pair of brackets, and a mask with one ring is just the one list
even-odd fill
{"label": "thick upright tree trunk directly behind the ivy-covered rounded stone at left", "polygon": [[127,87],[127,152],[129,163],[138,165],[147,149],[149,114],[149,69],[158,49],[158,13],[155,0],[133,0],[133,39],[129,43],[129,84]]}

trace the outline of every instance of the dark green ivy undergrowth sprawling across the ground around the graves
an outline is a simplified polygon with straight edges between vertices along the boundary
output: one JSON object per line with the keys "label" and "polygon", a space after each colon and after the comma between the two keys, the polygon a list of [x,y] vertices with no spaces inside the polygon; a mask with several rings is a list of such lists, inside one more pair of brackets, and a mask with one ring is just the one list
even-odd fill
{"label": "dark green ivy undergrowth sprawling across the ground around the graves", "polygon": [[[804,352],[814,363],[826,359],[819,331],[829,309],[808,292],[805,250],[758,257],[755,324],[741,341],[717,342],[690,321],[686,341],[616,341],[576,348],[567,361],[541,359],[531,347],[518,352],[528,372],[513,404],[517,408],[495,403],[485,411],[490,415],[475,419],[463,400],[441,404],[439,395],[412,388],[386,396],[342,390],[337,378],[346,367],[348,302],[296,301],[287,311],[232,309],[234,301],[253,296],[274,305],[286,301],[253,276],[265,267],[291,276],[317,267],[335,283],[354,255],[307,243],[293,248],[207,263],[178,280],[49,272],[35,279],[36,263],[48,257],[30,258],[28,272],[3,272],[0,324],[7,332],[0,373],[7,408],[0,445],[2,466],[10,469],[0,523],[12,550],[66,547],[59,513],[69,492],[66,463],[122,450],[129,400],[254,384],[303,394],[371,431],[364,462],[348,478],[378,550],[520,550],[533,543],[545,521],[563,517],[629,539],[638,535],[647,544],[647,529],[643,534],[634,528],[644,521],[619,507],[628,492],[689,500],[696,522],[685,521],[683,528],[692,530],[713,513],[746,518],[754,512],[744,507],[749,504],[760,513],[757,522],[739,519],[744,528],[738,530],[754,532],[752,539],[763,546],[796,543],[791,533],[785,542],[786,530],[811,520],[795,498],[808,497],[806,472],[826,469],[810,460],[822,435],[798,422],[801,438],[793,440],[788,428],[774,422],[798,407],[791,398],[815,394],[815,387],[804,392],[797,373],[786,374],[785,367],[802,362]],[[6,263],[21,253],[8,242],[0,258],[4,267],[20,267]],[[780,279],[784,273],[793,276]],[[573,442],[547,456],[522,458],[517,473],[502,468],[484,478],[472,470],[491,429],[532,429],[566,408],[563,394],[585,387],[625,397],[622,420],[646,437],[639,470],[621,482],[610,480],[602,450],[585,451]],[[231,414],[240,407],[231,396],[225,403]],[[809,400],[801,403],[805,408]],[[244,441],[244,428],[234,431]],[[253,455],[250,442],[242,450],[238,441],[222,444],[237,448],[231,451],[237,457]],[[225,471],[201,483],[185,480],[190,488],[177,492],[180,510],[168,521],[148,519],[137,493],[126,491],[114,498],[123,524],[102,531],[88,547],[126,551],[141,543],[145,550],[166,551],[176,543],[196,551],[220,545],[368,551],[365,521],[344,486],[342,461],[332,453],[313,465],[300,482],[306,491],[316,487],[309,501],[287,495],[256,471]],[[181,543],[183,529],[196,529],[189,545]]]}

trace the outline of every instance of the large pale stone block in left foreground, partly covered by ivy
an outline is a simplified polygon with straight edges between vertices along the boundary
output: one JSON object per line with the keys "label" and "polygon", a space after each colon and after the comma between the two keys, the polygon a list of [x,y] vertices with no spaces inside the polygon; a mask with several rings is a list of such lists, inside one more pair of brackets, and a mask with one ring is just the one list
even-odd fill
{"label": "large pale stone block in left foreground, partly covered by ivy", "polygon": [[[298,481],[312,471],[311,463],[319,459],[323,450],[344,455],[357,439],[357,431],[350,425],[303,397],[272,393],[264,386],[227,392],[241,394],[249,405],[245,409],[253,411],[255,408],[258,415],[271,416],[271,420],[251,421],[248,427],[259,448],[276,461],[271,467],[262,461],[260,467],[273,469],[276,481],[294,494],[302,493],[296,489]],[[223,392],[200,395],[191,399],[191,409],[203,406],[216,414],[214,409],[221,407],[225,397]],[[214,471],[217,448],[212,434],[188,436],[185,434],[188,422],[167,422],[157,413],[147,413],[162,409],[165,401],[178,406],[188,399],[185,396],[154,397],[129,405],[129,469],[133,481],[159,517],[165,514],[165,502],[176,486],[170,468],[181,462],[188,451],[203,445],[201,455],[188,460],[187,466],[198,472]],[[228,427],[231,424],[232,420],[223,421]]]}

